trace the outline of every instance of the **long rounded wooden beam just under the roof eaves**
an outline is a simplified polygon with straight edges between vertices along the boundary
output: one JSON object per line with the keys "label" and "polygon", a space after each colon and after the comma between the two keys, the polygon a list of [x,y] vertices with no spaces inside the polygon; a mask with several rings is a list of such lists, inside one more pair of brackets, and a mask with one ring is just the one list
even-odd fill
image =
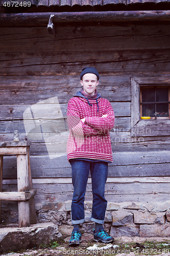
{"label": "long rounded wooden beam just under the roof eaves", "polygon": [[[32,1],[32,0],[31,0]],[[105,0],[110,1],[110,0]],[[90,1],[91,2],[91,1]],[[50,2],[52,5],[55,2]],[[57,2],[58,3],[58,2]],[[69,4],[63,0],[61,5]],[[87,3],[87,2],[86,2]],[[106,2],[104,2],[106,3]],[[88,3],[89,4],[89,3]],[[54,22],[89,22],[89,21],[104,21],[104,22],[134,22],[134,21],[148,21],[148,20],[169,20],[169,11],[108,11],[108,12],[63,12],[54,13]],[[18,13],[6,16],[1,14],[2,26],[11,26],[10,20],[13,19],[13,26],[45,26],[48,23],[48,13]]]}

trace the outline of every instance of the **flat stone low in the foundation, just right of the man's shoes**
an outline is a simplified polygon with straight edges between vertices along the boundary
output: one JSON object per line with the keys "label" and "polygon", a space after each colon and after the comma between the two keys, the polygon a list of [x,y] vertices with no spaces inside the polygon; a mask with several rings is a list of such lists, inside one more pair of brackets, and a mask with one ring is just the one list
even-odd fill
{"label": "flat stone low in the foundation, just right of the man's shoes", "polygon": [[112,237],[136,237],[139,235],[137,226],[111,226],[110,236]]}

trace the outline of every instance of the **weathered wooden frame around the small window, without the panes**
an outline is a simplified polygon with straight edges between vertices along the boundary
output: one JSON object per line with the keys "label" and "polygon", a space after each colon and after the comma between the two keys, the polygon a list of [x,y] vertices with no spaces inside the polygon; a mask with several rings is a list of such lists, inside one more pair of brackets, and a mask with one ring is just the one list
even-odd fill
{"label": "weathered wooden frame around the small window, without the panes", "polygon": [[170,136],[170,119],[140,119],[140,87],[168,86],[170,75],[138,76],[131,78],[131,137]]}

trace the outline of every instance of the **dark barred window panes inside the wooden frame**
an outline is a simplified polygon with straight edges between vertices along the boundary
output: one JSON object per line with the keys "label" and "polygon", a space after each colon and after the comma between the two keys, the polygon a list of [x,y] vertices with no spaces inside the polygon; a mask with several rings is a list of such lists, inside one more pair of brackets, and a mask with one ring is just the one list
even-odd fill
{"label": "dark barred window panes inside the wooden frame", "polygon": [[169,118],[169,87],[140,87],[140,117]]}

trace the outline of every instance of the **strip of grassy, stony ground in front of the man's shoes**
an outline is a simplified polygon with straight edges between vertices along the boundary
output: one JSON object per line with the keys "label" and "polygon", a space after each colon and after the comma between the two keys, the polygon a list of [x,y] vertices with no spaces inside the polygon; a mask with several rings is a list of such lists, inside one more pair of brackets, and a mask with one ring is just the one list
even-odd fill
{"label": "strip of grassy, stony ground in front of the man's shoes", "polygon": [[[113,243],[111,248],[102,249],[106,244],[98,244],[97,250],[88,250],[89,246],[93,246],[94,243],[92,240],[86,243],[81,243],[79,247],[69,247],[68,243],[65,243],[64,240],[51,241],[50,244],[39,244],[36,248],[32,249],[34,252],[31,253],[31,250],[25,251],[24,255],[41,255],[41,256],[56,256],[56,255],[66,255],[66,256],[114,256],[116,254],[125,253],[130,254],[134,252],[135,255],[156,255],[161,253],[170,252],[170,240],[166,242],[157,242],[157,241],[145,241],[141,243]],[[37,251],[35,253],[35,250]],[[21,251],[20,251],[21,253]],[[23,253],[23,251],[22,251]],[[28,254],[27,254],[28,253]]]}

